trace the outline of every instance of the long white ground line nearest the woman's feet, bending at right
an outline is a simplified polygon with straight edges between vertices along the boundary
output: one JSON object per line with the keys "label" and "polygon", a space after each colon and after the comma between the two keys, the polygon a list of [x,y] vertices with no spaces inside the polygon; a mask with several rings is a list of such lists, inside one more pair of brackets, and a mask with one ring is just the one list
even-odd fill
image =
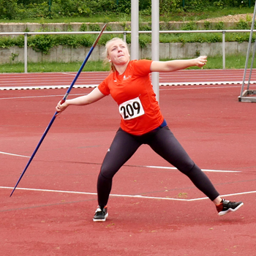
{"label": "long white ground line nearest the woman's feet, bending at right", "polygon": [[[13,187],[0,187],[0,189],[13,189]],[[52,190],[52,189],[29,189],[29,188],[20,188],[20,187],[17,187],[16,189],[26,190],[26,191],[39,191],[39,192],[56,192],[56,193],[80,194],[80,195],[97,195],[97,193],[91,193],[91,192],[78,192],[78,191],[65,191],[65,190]],[[247,195],[247,194],[252,194],[252,193],[256,193],[256,191],[239,192],[239,193],[220,195],[220,196],[228,197],[228,196],[233,196],[233,195]],[[186,202],[208,199],[208,197],[183,199],[183,198],[170,198],[170,197],[146,197],[143,195],[114,195],[114,194],[110,194],[110,196],[112,196],[112,197],[137,197],[137,198],[139,197],[139,198],[146,198],[146,199],[176,200],[176,201],[186,201]]]}

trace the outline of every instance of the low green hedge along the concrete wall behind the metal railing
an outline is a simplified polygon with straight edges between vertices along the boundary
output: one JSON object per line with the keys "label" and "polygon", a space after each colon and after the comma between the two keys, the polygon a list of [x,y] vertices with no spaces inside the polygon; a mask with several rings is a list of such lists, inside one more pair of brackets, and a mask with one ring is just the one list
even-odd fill
{"label": "low green hedge along the concrete wall behind the metal railing", "polygon": [[[236,28],[233,29],[249,29],[249,22],[240,21],[237,23]],[[183,26],[182,30],[197,29],[194,22],[189,22]],[[208,29],[208,23],[205,23],[205,29]],[[225,29],[222,22],[215,25],[215,28],[211,29]],[[86,31],[87,24],[83,23],[80,26],[80,31]],[[91,24],[89,26],[90,31],[99,31],[99,25]],[[144,27],[143,30],[148,30]],[[45,30],[42,30],[45,31]],[[80,46],[91,47],[97,34],[37,34],[28,37],[28,46],[34,50],[41,51],[47,54],[50,48],[58,45],[64,45],[66,47],[78,48]],[[99,39],[99,45],[105,45],[108,40],[113,37],[122,37],[120,34],[103,34]],[[226,33],[225,40],[227,42],[248,42],[249,32],[247,33]],[[252,38],[255,42],[255,36]],[[127,34],[127,43],[131,42],[131,35]],[[145,47],[151,42],[151,34],[140,34],[139,43],[141,47]],[[222,33],[177,33],[177,34],[159,34],[159,42],[222,42]],[[0,37],[0,48],[10,48],[17,45],[18,47],[24,46],[24,37]]]}

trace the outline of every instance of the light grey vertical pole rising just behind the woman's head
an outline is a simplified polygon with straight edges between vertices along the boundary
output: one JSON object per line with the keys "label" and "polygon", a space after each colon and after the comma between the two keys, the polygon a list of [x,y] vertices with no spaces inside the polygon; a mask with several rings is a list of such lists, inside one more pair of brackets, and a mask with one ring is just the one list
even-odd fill
{"label": "light grey vertical pole rising just behind the woman's head", "polygon": [[132,0],[131,31],[131,59],[139,59],[139,0]]}

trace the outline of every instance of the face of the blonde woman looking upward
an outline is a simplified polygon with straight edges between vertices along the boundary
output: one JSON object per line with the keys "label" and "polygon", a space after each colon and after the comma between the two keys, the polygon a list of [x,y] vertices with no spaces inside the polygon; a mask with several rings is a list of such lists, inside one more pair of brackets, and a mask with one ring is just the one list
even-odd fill
{"label": "face of the blonde woman looking upward", "polygon": [[108,45],[108,60],[114,65],[127,64],[129,61],[129,50],[125,42],[120,40],[113,40]]}

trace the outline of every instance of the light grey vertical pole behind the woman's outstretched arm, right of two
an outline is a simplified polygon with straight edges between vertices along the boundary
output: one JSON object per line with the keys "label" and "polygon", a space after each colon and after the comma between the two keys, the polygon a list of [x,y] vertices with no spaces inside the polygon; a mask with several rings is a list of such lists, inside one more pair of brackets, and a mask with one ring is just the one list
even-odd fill
{"label": "light grey vertical pole behind the woman's outstretched arm, right of two", "polygon": [[[159,61],[159,0],[151,0],[151,58]],[[159,102],[159,72],[152,72],[151,81]]]}

